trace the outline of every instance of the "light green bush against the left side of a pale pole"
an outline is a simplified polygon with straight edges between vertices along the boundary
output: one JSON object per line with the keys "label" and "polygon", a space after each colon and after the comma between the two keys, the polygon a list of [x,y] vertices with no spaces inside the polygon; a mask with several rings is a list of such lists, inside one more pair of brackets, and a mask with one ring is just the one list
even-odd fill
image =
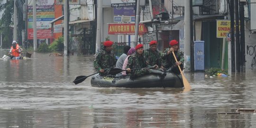
{"label": "light green bush against the left side of a pale pole", "polygon": [[58,37],[49,46],[50,51],[63,51],[63,49],[64,49],[64,38],[63,37]]}

